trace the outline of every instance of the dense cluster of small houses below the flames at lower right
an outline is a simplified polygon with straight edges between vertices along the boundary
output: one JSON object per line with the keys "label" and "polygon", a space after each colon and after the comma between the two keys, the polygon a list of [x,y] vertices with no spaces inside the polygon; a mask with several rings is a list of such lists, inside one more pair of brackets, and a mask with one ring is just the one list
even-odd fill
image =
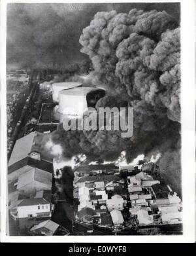
{"label": "dense cluster of small houses below the flames at lower right", "polygon": [[99,227],[123,230],[182,223],[182,202],[176,192],[142,171],[142,166],[79,166],[74,170],[74,198],[76,220]]}

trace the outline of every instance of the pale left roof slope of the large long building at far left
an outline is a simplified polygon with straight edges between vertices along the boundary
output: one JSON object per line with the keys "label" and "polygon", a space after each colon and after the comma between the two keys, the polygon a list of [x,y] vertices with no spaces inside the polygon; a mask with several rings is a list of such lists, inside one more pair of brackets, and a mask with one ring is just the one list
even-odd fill
{"label": "pale left roof slope of the large long building at far left", "polygon": [[8,166],[11,166],[15,162],[18,162],[28,156],[28,154],[31,152],[31,147],[33,145],[35,136],[36,132],[31,132],[30,134],[17,139],[12,151],[12,155],[10,156]]}

